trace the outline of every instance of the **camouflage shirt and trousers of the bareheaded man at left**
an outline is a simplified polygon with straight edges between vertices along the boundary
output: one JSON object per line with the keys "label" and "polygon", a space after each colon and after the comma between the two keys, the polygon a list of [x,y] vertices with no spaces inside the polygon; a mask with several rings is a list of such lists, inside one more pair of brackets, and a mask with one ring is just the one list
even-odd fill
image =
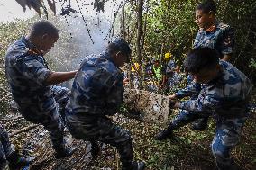
{"label": "camouflage shirt and trousers of the bareheaded man at left", "polygon": [[45,85],[50,76],[42,54],[33,44],[22,38],[12,44],[5,57],[5,73],[19,112],[27,121],[41,123],[50,132],[53,147],[64,147],[63,121],[69,90]]}

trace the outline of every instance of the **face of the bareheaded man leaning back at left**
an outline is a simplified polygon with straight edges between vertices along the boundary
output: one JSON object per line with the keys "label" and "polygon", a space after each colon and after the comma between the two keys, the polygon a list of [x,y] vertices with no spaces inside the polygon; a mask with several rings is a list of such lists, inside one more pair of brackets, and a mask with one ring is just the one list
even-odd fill
{"label": "face of the bareheaded man leaning back at left", "polygon": [[57,42],[59,39],[59,35],[49,35],[49,34],[44,34],[41,37],[41,45],[40,49],[43,51],[43,53],[47,53],[52,47],[54,47],[54,44]]}

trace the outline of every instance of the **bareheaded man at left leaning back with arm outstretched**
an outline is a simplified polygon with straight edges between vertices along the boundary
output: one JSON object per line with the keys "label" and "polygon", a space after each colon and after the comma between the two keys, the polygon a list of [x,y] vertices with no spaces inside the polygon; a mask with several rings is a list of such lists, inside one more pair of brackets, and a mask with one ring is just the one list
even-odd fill
{"label": "bareheaded man at left leaning back with arm outstretched", "polygon": [[62,158],[74,152],[65,145],[60,116],[64,115],[69,90],[51,85],[73,78],[77,71],[53,72],[48,68],[43,56],[58,39],[59,31],[50,22],[34,23],[29,35],[7,49],[5,73],[19,112],[27,121],[49,130],[55,156]]}

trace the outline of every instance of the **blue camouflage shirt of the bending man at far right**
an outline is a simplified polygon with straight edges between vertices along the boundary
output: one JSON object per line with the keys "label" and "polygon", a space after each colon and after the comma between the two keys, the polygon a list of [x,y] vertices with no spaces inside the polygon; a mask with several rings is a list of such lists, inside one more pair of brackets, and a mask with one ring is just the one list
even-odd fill
{"label": "blue camouflage shirt of the bending man at far right", "polygon": [[[180,103],[180,108],[191,112],[209,111],[224,117],[245,116],[251,97],[251,81],[232,64],[220,61],[223,70],[207,84],[201,84],[196,100]],[[193,88],[193,85],[191,85]],[[193,92],[194,90],[190,90]],[[177,95],[181,97],[181,93]]]}

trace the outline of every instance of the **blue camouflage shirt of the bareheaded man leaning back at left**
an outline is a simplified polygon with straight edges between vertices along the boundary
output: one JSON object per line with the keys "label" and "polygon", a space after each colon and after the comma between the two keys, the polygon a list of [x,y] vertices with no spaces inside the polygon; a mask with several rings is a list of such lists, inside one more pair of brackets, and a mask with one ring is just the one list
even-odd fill
{"label": "blue camouflage shirt of the bareheaded man leaning back at left", "polygon": [[5,74],[19,109],[38,105],[40,112],[55,107],[50,85],[45,80],[50,70],[38,49],[24,37],[15,41],[6,52]]}

